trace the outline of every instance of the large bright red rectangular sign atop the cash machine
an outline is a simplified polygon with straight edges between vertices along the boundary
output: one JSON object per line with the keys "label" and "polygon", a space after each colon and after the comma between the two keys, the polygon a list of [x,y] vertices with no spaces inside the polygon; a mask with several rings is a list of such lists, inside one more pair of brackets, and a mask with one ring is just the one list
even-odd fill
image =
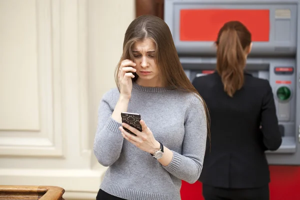
{"label": "large bright red rectangular sign atop the cash machine", "polygon": [[215,41],[222,25],[230,20],[242,22],[252,34],[252,41],[269,40],[268,9],[181,9],[181,41]]}

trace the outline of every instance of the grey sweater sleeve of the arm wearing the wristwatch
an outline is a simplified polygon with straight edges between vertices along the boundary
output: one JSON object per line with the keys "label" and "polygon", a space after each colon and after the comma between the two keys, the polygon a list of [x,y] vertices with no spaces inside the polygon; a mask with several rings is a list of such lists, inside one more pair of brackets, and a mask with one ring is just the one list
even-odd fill
{"label": "grey sweater sleeve of the arm wearing the wristwatch", "polygon": [[171,162],[164,168],[188,183],[200,176],[206,147],[206,115],[203,103],[193,96],[185,114],[182,154],[173,151]]}

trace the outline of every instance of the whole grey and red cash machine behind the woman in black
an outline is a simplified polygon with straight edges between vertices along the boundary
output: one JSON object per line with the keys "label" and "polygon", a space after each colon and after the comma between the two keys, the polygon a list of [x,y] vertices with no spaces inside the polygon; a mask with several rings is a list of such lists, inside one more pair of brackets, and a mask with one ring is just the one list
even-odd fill
{"label": "whole grey and red cash machine behind the woman in black", "polygon": [[253,45],[245,70],[269,81],[282,135],[279,149],[266,152],[271,200],[281,199],[275,195],[280,192],[286,192],[284,199],[300,199],[299,4],[299,0],[164,0],[164,20],[191,81],[215,69],[214,41],[225,22],[239,20],[250,30]]}

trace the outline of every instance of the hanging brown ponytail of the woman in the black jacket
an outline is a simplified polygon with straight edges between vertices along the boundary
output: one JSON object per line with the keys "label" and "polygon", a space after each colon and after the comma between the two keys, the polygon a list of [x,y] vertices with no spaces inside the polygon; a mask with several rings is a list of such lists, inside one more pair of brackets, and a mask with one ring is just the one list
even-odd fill
{"label": "hanging brown ponytail of the woman in the black jacket", "polygon": [[221,76],[224,91],[232,97],[243,85],[246,64],[244,49],[235,29],[225,29],[217,41],[216,70]]}

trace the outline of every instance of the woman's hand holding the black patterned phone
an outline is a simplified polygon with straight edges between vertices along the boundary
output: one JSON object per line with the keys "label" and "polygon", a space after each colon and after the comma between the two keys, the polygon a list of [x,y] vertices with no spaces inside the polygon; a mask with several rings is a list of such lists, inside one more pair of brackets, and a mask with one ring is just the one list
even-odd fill
{"label": "woman's hand holding the black patterned phone", "polygon": [[121,134],[126,140],[134,144],[139,149],[153,154],[156,150],[159,150],[160,143],[155,140],[151,130],[147,127],[145,122],[143,120],[140,120],[139,122],[142,128],[141,132],[126,123],[122,123],[122,126],[136,134],[136,136],[128,133],[123,129],[123,127],[119,127]]}

